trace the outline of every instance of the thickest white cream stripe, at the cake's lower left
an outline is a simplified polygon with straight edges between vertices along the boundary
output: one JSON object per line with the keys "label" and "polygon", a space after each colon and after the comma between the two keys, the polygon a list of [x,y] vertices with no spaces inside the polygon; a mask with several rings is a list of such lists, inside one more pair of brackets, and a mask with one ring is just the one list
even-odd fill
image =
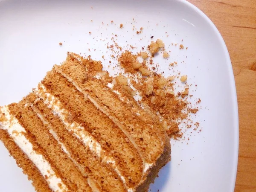
{"label": "thickest white cream stripe, at the cake's lower left", "polygon": [[[15,116],[12,116],[9,112],[7,106],[0,108],[0,115],[5,113],[4,117],[6,121],[0,122],[1,128],[8,131],[9,135],[19,146],[19,148],[29,157],[29,159],[35,164],[38,170],[41,172],[49,187],[54,192],[64,192],[67,191],[67,186],[62,182],[62,180],[56,176],[51,165],[44,159],[43,155],[37,154],[33,150],[32,143],[26,139],[24,133],[26,130],[19,124]],[[61,184],[61,187],[59,186]]]}

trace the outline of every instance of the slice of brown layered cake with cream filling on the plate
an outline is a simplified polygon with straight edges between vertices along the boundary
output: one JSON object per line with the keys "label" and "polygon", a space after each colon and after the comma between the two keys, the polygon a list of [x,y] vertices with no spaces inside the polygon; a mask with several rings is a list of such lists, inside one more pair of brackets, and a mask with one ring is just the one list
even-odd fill
{"label": "slice of brown layered cake with cream filling on the plate", "polygon": [[32,93],[0,107],[0,139],[36,191],[143,192],[170,160],[159,119],[110,81],[99,61],[68,53]]}

